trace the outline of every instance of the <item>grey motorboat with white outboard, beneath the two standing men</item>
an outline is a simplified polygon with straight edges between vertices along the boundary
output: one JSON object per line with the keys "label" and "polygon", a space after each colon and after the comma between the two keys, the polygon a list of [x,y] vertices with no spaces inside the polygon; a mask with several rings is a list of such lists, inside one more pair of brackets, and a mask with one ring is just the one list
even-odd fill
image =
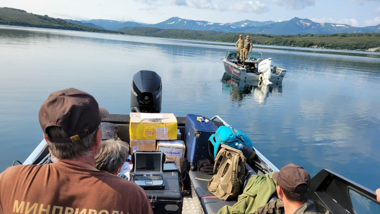
{"label": "grey motorboat with white outboard, beneath the two standing men", "polygon": [[239,80],[264,81],[265,84],[265,79],[271,82],[282,81],[287,72],[274,66],[271,58],[263,59],[260,52],[248,54],[247,59],[241,63],[237,60],[237,51],[227,51],[222,61],[225,72]]}

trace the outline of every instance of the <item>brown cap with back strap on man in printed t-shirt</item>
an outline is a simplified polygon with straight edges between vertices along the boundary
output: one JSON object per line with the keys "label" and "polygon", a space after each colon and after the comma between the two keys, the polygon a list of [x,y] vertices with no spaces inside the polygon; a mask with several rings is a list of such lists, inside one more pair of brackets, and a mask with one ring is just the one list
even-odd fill
{"label": "brown cap with back strap on man in printed t-shirt", "polygon": [[[93,96],[75,88],[51,93],[38,113],[45,136],[54,143],[79,141],[96,131],[101,118],[108,116],[108,111],[99,107]],[[46,133],[49,126],[66,129],[70,137],[50,137]]]}

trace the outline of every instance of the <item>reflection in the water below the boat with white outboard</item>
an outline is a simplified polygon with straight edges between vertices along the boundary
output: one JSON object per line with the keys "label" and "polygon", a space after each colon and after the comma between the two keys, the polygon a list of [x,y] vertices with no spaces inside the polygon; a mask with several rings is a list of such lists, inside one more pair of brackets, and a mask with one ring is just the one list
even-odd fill
{"label": "reflection in the water below the boat with white outboard", "polygon": [[253,99],[258,103],[265,102],[271,93],[282,93],[282,83],[274,82],[271,85],[264,85],[258,80],[236,80],[227,73],[222,77],[222,91],[229,93],[231,101],[240,102],[245,96],[253,94]]}

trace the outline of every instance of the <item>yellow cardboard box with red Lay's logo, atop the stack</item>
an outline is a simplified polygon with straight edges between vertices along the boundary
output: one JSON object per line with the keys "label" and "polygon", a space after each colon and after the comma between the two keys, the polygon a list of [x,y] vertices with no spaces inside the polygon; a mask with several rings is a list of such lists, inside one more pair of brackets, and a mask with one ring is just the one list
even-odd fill
{"label": "yellow cardboard box with red Lay's logo, atop the stack", "polygon": [[131,113],[129,137],[134,140],[175,140],[177,118],[173,113]]}

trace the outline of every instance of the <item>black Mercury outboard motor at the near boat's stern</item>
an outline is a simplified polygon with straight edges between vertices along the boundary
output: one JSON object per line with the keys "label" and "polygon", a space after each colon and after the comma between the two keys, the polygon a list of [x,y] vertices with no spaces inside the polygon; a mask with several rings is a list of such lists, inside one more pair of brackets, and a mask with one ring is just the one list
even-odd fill
{"label": "black Mercury outboard motor at the near boat's stern", "polygon": [[133,75],[131,112],[160,113],[161,77],[151,70],[140,70]]}

